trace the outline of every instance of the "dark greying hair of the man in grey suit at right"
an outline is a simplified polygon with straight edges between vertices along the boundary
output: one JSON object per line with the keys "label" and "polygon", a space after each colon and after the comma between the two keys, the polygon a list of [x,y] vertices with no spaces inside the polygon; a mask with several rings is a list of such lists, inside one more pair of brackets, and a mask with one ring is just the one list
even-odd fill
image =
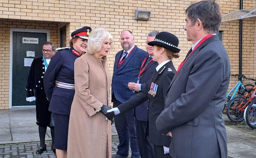
{"label": "dark greying hair of the man in grey suit at right", "polygon": [[221,23],[220,6],[215,0],[203,0],[190,5],[186,9],[186,14],[194,25],[196,19],[200,19],[204,30],[207,33],[218,33]]}

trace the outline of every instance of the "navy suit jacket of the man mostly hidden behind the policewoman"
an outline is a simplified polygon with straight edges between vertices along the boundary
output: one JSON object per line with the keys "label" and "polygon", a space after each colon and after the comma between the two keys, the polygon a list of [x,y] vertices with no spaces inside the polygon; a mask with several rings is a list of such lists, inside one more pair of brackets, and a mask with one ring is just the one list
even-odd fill
{"label": "navy suit jacket of the man mostly hidden behind the policewoman", "polygon": [[[150,78],[154,74],[154,71],[156,70],[156,66],[158,66],[158,63],[151,61],[150,63],[148,63],[148,65],[140,75],[139,83],[141,84],[141,87],[140,87],[141,90],[145,87],[148,80],[150,80]],[[135,94],[138,94],[138,92],[136,92]],[[148,100],[146,100],[140,106],[137,106],[135,108],[135,116],[136,116],[136,119],[140,121],[148,120]]]}

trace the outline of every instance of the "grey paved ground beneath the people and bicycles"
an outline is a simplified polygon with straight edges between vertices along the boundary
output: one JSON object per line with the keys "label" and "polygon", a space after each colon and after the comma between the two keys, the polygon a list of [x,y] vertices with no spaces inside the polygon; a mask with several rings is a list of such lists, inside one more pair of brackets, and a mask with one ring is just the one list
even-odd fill
{"label": "grey paved ground beneath the people and bicycles", "polygon": [[[246,122],[232,123],[224,115],[228,137],[228,158],[256,158],[256,130]],[[112,155],[119,144],[112,125]],[[51,150],[50,128],[46,132],[46,151],[35,152],[40,145],[35,108],[0,110],[0,158],[56,158]],[[128,158],[131,157],[131,151]]]}

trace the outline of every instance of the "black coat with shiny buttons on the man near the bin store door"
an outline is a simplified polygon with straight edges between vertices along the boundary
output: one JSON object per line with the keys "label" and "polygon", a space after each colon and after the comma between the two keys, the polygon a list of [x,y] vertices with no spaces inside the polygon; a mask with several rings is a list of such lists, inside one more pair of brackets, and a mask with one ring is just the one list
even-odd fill
{"label": "black coat with shiny buttons on the man near the bin store door", "polygon": [[[36,124],[38,126],[49,126],[52,112],[48,110],[49,102],[44,92],[44,60],[43,57],[34,58],[28,74],[26,86],[27,97],[36,97]],[[34,90],[36,95],[34,95]]]}

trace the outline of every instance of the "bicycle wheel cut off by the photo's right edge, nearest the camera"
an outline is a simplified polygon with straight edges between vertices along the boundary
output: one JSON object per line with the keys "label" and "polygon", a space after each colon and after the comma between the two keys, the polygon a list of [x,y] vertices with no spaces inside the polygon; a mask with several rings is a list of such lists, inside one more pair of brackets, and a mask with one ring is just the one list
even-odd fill
{"label": "bicycle wheel cut off by the photo's right edge, nearest the camera", "polygon": [[250,128],[256,129],[256,99],[246,107],[244,111],[246,123]]}

